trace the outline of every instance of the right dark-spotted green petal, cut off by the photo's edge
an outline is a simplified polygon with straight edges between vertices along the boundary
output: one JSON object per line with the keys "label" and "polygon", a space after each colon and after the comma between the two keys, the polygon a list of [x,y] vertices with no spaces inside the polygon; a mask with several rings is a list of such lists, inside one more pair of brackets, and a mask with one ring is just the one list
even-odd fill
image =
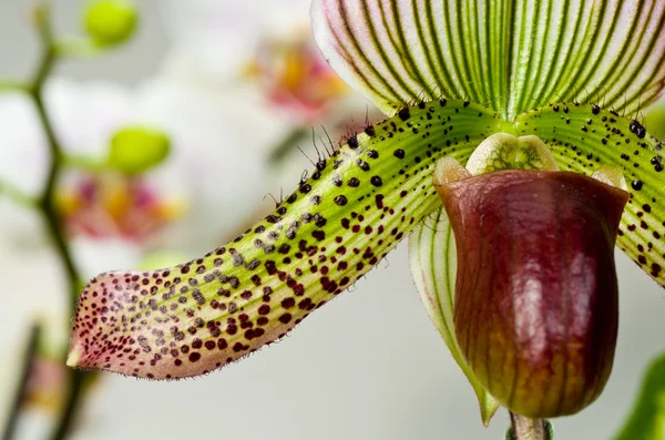
{"label": "right dark-spotted green petal, cut off by the photo's edge", "polygon": [[663,143],[638,121],[597,105],[549,105],[521,115],[516,126],[540,136],[562,170],[591,175],[603,164],[622,167],[632,195],[617,246],[665,286]]}

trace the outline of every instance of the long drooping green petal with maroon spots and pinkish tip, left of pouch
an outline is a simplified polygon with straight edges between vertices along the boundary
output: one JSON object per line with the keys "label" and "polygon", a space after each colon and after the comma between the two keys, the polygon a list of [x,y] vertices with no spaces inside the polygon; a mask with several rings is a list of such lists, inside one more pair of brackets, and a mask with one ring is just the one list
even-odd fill
{"label": "long drooping green petal with maroon spots and pinkish tip, left of pouch", "polygon": [[163,270],[98,276],[79,299],[68,365],[176,379],[280,338],[440,206],[440,157],[466,161],[499,125],[467,102],[405,108],[321,158],[233,243]]}

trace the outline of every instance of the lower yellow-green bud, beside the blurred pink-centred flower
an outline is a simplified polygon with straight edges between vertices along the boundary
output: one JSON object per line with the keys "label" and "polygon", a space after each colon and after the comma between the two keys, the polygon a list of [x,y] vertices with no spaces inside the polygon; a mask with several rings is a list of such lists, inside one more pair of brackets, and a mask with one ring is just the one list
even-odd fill
{"label": "lower yellow-green bud, beside the blurred pink-centred flower", "polygon": [[139,174],[158,165],[168,156],[168,137],[156,130],[129,126],[111,139],[109,164],[126,174]]}

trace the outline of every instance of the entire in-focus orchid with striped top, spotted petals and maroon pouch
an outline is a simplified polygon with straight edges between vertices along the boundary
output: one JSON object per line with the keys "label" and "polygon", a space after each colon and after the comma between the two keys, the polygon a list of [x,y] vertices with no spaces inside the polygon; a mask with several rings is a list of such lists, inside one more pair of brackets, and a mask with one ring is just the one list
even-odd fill
{"label": "entire in-focus orchid with striped top, spotted petals and maroon pouch", "polygon": [[331,66],[389,119],[345,137],[228,245],[93,278],[68,364],[213,371],[411,234],[416,284],[485,421],[497,400],[530,417],[591,403],[614,351],[615,239],[665,285],[662,143],[640,119],[665,88],[665,2],[315,0],[311,13]]}

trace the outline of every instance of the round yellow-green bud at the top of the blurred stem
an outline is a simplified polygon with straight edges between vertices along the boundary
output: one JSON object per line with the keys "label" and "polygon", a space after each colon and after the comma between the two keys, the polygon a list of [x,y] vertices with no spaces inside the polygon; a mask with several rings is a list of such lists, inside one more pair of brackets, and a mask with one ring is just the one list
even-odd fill
{"label": "round yellow-green bud at the top of the blurred stem", "polygon": [[85,11],[85,31],[100,47],[124,43],[136,27],[136,8],[123,0],[93,1]]}

